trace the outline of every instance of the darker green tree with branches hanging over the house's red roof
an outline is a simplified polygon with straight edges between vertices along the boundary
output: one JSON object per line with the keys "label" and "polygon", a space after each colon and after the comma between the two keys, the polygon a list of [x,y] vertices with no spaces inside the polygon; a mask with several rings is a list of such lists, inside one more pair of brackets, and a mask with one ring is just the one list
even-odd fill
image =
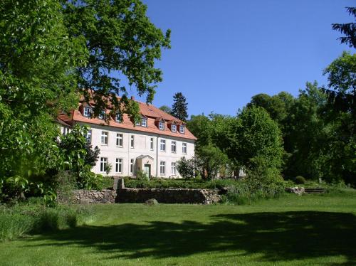
{"label": "darker green tree with branches hanging over the house's red roof", "polygon": [[[155,68],[155,61],[161,58],[162,48],[170,47],[170,31],[162,33],[155,27],[140,0],[61,2],[69,36],[83,38],[89,53],[85,65],[75,73],[80,88],[95,91],[84,90],[86,100],[95,102],[94,115],[106,108],[112,115],[126,112],[135,119],[137,103],[126,97],[121,77],[125,75],[138,95],[146,94],[147,103],[152,102],[157,83],[162,81],[162,70]],[[115,95],[122,97],[117,100]]]}

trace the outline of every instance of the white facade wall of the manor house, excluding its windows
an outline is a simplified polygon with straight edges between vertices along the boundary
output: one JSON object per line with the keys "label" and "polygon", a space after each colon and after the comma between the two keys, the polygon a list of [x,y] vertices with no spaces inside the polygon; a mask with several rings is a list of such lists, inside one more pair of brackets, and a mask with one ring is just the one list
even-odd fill
{"label": "white facade wall of the manor house, excluding its windows", "polygon": [[[84,123],[79,123],[84,125]],[[100,169],[101,158],[106,158],[112,165],[109,176],[135,176],[136,171],[143,171],[142,167],[137,165],[137,157],[148,155],[153,158],[142,159],[142,164],[150,164],[151,176],[162,178],[179,178],[178,171],[172,172],[172,163],[177,162],[183,156],[191,159],[194,156],[194,140],[183,139],[179,137],[169,137],[160,134],[150,134],[131,129],[120,129],[98,124],[87,124],[91,130],[90,142],[100,149],[100,156],[97,164],[93,167],[96,174],[106,175],[103,169]],[[137,126],[139,128],[140,126]],[[103,132],[108,133],[108,143],[102,143]],[[117,146],[117,134],[122,134],[122,146]],[[104,134],[105,135],[105,134]],[[134,138],[134,146],[131,147],[131,137]],[[153,139],[153,149],[151,149],[151,139]],[[165,141],[165,150],[161,151],[161,140]],[[172,142],[175,142],[176,151],[172,151]],[[183,145],[187,144],[187,153],[183,152]],[[158,146],[157,146],[158,145]],[[122,159],[122,171],[117,172],[116,159]],[[130,163],[133,159],[133,172],[130,171]],[[161,173],[161,161],[164,162],[165,171]],[[140,168],[140,169],[139,169]]]}

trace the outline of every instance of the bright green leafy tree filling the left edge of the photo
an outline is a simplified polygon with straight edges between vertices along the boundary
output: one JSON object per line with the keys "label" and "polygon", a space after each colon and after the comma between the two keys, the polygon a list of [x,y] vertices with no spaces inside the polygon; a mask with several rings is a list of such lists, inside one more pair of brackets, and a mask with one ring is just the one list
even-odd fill
{"label": "bright green leafy tree filling the left edge of the photo", "polygon": [[0,3],[0,176],[45,175],[61,167],[53,120],[78,106],[75,68],[87,53],[68,36],[56,1]]}

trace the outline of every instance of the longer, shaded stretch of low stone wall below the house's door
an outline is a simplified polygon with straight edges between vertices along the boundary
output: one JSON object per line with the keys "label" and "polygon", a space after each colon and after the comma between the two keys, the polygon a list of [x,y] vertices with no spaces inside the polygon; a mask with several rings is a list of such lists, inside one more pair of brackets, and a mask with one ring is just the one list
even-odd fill
{"label": "longer, shaded stretch of low stone wall below the house's door", "polygon": [[115,181],[117,203],[144,203],[155,198],[159,203],[211,204],[220,201],[219,191],[188,188],[125,188],[124,180]]}

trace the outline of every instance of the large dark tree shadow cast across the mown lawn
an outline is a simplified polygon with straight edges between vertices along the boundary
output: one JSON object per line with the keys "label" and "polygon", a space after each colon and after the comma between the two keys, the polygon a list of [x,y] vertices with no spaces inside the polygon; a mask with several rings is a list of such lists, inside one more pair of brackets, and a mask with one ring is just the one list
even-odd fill
{"label": "large dark tree shadow cast across the mown lawn", "polygon": [[[203,252],[261,253],[264,261],[303,260],[345,255],[356,264],[356,216],[351,213],[299,211],[211,216],[211,223],[148,222],[83,226],[27,241],[80,245],[116,258],[179,257]],[[53,242],[51,241],[53,240]],[[30,244],[31,243],[27,243]]]}

